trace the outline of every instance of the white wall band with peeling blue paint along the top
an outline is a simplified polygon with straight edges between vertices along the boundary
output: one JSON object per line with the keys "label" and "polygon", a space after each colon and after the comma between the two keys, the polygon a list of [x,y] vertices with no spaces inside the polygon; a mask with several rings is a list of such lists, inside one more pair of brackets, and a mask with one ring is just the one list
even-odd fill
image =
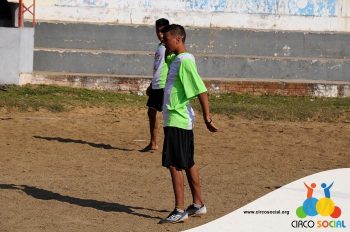
{"label": "white wall band with peeling blue paint along the top", "polygon": [[36,6],[39,21],[153,25],[166,17],[192,27],[350,32],[350,0],[36,0]]}

